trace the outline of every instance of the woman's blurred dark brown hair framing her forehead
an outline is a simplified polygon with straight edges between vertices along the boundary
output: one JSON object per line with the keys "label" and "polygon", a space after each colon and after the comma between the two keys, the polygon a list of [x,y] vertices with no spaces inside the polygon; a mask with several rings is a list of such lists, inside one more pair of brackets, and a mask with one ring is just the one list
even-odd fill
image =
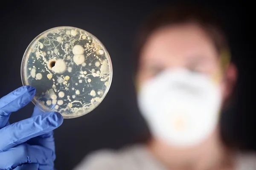
{"label": "woman's blurred dark brown hair framing her forehead", "polygon": [[145,20],[139,29],[135,46],[135,73],[137,72],[139,65],[140,52],[148,37],[154,31],[165,26],[186,23],[195,23],[203,28],[212,39],[216,51],[220,55],[223,51],[229,51],[227,37],[222,28],[222,24],[215,15],[209,12],[209,10],[198,6],[168,6],[153,13],[147,20]]}

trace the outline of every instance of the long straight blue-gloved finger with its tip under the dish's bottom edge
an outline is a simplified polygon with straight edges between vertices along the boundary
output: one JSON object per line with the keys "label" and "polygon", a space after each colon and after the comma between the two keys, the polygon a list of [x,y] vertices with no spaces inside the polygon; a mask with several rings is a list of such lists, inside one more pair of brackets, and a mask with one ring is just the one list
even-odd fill
{"label": "long straight blue-gloved finger with its tip under the dish's bottom edge", "polygon": [[48,133],[59,127],[63,117],[58,112],[48,112],[42,115],[21,120],[0,129],[0,152],[15,147],[27,140]]}

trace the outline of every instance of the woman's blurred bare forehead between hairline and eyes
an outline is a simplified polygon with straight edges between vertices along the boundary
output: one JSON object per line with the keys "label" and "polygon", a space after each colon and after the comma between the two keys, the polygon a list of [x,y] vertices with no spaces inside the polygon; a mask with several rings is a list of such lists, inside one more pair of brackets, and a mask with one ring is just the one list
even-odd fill
{"label": "woman's blurred bare forehead between hairline and eyes", "polygon": [[211,38],[197,24],[159,28],[148,37],[141,53],[143,60],[187,59],[193,56],[217,56]]}

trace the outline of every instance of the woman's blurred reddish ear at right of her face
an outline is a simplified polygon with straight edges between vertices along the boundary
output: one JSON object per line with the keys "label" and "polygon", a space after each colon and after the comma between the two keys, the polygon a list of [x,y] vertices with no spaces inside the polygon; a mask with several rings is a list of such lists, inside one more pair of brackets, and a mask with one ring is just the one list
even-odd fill
{"label": "woman's blurred reddish ear at right of her face", "polygon": [[225,72],[225,80],[224,80],[224,100],[227,100],[234,91],[236,81],[238,77],[238,71],[236,65],[232,62],[228,65]]}

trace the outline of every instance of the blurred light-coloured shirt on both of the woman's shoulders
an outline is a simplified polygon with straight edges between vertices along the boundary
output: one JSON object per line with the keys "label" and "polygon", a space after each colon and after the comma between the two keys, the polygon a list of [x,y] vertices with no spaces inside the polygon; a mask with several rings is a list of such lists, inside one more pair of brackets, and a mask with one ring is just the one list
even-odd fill
{"label": "blurred light-coloured shirt on both of the woman's shoulders", "polygon": [[[256,154],[238,154],[235,170],[256,170]],[[74,170],[167,170],[144,145],[122,150],[99,150],[87,156]]]}

